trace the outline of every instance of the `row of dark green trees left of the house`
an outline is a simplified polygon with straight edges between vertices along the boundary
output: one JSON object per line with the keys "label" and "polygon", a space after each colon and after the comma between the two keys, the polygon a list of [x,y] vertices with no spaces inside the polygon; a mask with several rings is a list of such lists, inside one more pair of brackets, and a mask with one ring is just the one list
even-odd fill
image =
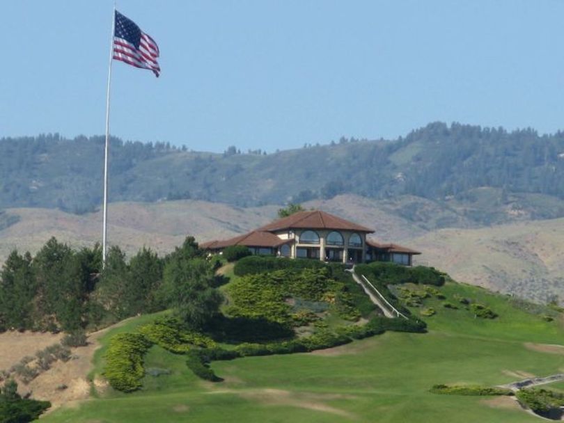
{"label": "row of dark green trees left of the house", "polygon": [[13,250],[0,271],[0,330],[65,330],[107,326],[136,314],[173,308],[198,327],[219,308],[217,262],[193,237],[164,257],[148,248],[126,260],[99,245],[75,250],[49,239],[35,256]]}

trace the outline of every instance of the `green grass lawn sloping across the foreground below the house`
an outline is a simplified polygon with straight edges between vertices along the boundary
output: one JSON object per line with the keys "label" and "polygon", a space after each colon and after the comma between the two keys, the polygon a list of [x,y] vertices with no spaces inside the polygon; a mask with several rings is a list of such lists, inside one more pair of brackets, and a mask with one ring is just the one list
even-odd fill
{"label": "green grass lawn sloping across the foreground below the house", "polygon": [[[62,408],[43,422],[538,422],[506,397],[458,397],[428,392],[436,383],[497,385],[518,380],[512,372],[547,376],[564,371],[564,355],[543,353],[526,342],[564,344],[561,319],[547,322],[512,307],[508,298],[469,285],[442,287],[446,300],[430,298],[437,314],[426,334],[385,333],[329,351],[213,362],[221,383],[196,378],[185,358],[158,346],[146,376],[132,394],[109,391],[78,407]],[[448,310],[453,294],[483,303],[497,319],[475,319]],[[418,308],[413,308],[414,313]],[[128,321],[132,330],[151,317]],[[101,353],[95,360],[100,371]],[[547,385],[550,386],[550,385]],[[564,386],[555,384],[555,388]]]}

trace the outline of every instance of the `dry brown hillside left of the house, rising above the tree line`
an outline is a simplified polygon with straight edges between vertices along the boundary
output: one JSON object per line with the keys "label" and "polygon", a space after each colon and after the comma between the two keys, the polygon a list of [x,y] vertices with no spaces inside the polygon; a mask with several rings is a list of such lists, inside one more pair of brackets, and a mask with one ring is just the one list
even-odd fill
{"label": "dry brown hillside left of the house, rising above the tree line", "polygon": [[[198,240],[230,237],[276,215],[274,206],[240,209],[197,200],[109,205],[108,237],[130,255],[147,246],[168,253],[190,234]],[[92,246],[102,238],[102,213],[77,216],[54,209],[8,209],[19,216],[0,231],[0,260],[10,250],[35,253],[50,237],[72,246]]]}

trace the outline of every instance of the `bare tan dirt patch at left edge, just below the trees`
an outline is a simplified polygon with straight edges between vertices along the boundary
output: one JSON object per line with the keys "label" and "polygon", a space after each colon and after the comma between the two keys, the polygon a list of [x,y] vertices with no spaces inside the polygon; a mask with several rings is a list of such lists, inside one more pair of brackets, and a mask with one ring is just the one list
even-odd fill
{"label": "bare tan dirt patch at left edge, just below the trees", "polygon": [[9,369],[25,356],[33,356],[37,351],[57,344],[62,333],[4,332],[0,333],[0,369]]}

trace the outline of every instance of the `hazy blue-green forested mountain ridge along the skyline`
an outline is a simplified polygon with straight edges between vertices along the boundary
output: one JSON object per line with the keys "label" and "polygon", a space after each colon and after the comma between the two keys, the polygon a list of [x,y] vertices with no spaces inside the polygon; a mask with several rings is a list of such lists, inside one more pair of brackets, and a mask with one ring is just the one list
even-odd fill
{"label": "hazy blue-green forested mountain ridge along the skyline", "polygon": [[[102,197],[103,144],[100,136],[0,138],[0,207],[92,212]],[[343,137],[270,154],[233,146],[224,154],[191,152],[113,138],[110,175],[113,202],[196,199],[250,207],[351,193],[424,198],[464,210],[464,221],[473,225],[522,214],[564,216],[564,134],[541,136],[533,129],[433,122],[395,140]],[[502,206],[513,213],[500,212]],[[414,209],[405,212],[411,219]],[[435,227],[457,226],[456,219],[439,217]]]}

